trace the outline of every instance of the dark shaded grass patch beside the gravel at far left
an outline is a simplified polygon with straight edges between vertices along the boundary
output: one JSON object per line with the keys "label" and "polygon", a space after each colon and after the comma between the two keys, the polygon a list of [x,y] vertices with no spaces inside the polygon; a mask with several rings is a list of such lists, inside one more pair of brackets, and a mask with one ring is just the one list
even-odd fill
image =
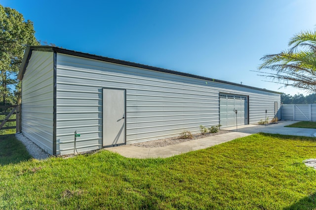
{"label": "dark shaded grass patch beside the gravel at far left", "polygon": [[14,134],[0,135],[0,166],[31,159],[23,143]]}

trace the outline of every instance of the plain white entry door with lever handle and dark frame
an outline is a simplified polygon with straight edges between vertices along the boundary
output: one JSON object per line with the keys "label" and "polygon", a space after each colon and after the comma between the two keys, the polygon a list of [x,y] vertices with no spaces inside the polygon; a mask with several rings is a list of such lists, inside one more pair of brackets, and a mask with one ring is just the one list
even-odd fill
{"label": "plain white entry door with lever handle and dark frame", "polygon": [[125,90],[103,89],[103,146],[125,143]]}

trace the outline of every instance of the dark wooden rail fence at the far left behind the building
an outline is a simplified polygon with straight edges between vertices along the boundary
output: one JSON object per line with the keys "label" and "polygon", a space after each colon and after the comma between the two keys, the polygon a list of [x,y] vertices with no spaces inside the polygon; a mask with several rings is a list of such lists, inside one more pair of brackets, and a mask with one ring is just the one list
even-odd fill
{"label": "dark wooden rail fence at the far left behind the building", "polygon": [[[0,130],[6,129],[16,129],[16,133],[21,132],[21,112],[20,112],[21,105],[0,105],[0,115],[5,116],[3,120],[0,120]],[[10,119],[10,117],[15,114],[15,119]],[[3,117],[2,117],[3,118]],[[7,122],[16,122],[16,126],[6,126],[4,125]]]}

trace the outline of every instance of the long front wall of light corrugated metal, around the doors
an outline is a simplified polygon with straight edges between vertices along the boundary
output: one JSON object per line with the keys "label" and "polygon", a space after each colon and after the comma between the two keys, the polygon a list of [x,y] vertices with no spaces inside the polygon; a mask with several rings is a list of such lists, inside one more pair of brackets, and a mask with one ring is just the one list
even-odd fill
{"label": "long front wall of light corrugated metal, around the doors", "polygon": [[219,93],[249,96],[249,122],[274,116],[279,94],[57,54],[57,154],[102,147],[102,89],[126,89],[126,142],[219,124]]}

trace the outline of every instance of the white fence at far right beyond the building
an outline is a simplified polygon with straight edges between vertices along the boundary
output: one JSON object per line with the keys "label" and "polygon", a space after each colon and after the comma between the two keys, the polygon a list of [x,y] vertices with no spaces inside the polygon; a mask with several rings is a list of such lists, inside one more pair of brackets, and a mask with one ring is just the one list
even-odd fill
{"label": "white fence at far right beyond the building", "polygon": [[282,105],[282,120],[316,121],[316,104]]}

